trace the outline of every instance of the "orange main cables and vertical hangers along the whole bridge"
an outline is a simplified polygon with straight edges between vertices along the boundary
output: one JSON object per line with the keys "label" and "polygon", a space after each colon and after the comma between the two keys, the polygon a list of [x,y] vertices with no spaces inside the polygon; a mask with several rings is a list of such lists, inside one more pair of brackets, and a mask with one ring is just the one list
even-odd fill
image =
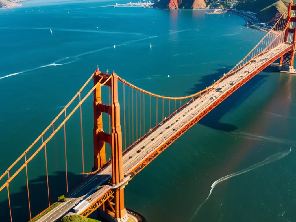
{"label": "orange main cables and vertical hangers along the whole bridge", "polygon": [[[170,97],[170,96],[161,96],[144,89],[141,89],[132,83],[124,80],[123,78],[118,77],[118,79],[123,83],[122,85],[122,96],[123,96],[123,126],[124,126],[124,147],[127,149],[132,144],[135,144],[139,139],[143,139],[147,133],[149,133],[150,129],[157,126],[161,120],[165,117],[169,117],[173,113],[176,112],[180,107],[182,107],[186,102],[189,102],[190,99],[202,96],[207,93],[210,89],[215,87],[215,85],[230,75],[241,70],[247,64],[249,64],[253,59],[258,56],[268,52],[271,49],[279,46],[284,43],[284,32],[288,28],[288,22],[284,18],[284,14],[280,17],[280,19],[276,22],[274,27],[264,36],[264,38],[251,50],[246,57],[244,57],[233,69],[231,69],[226,75],[222,76],[218,81],[214,84],[210,85],[206,89],[203,89],[195,94],[181,97]],[[94,87],[90,91],[86,93],[86,96],[81,98],[81,92],[87,91],[85,88],[94,77],[94,74],[86,81],[86,83],[81,87],[81,89],[75,94],[73,99],[65,106],[65,108],[57,115],[57,117],[49,124],[48,127],[41,133],[40,136],[22,153],[22,155],[17,158],[17,160],[0,176],[0,192],[7,188],[8,193],[8,202],[9,202],[9,211],[12,221],[11,215],[11,206],[9,200],[9,183],[14,180],[14,178],[25,168],[26,170],[26,178],[27,178],[27,188],[28,188],[28,200],[29,200],[29,211],[30,211],[30,194],[29,194],[29,184],[28,184],[28,163],[33,160],[33,158],[42,150],[45,150],[45,164],[46,164],[46,177],[48,178],[47,172],[47,162],[46,162],[46,144],[54,138],[56,133],[64,128],[64,142],[65,142],[65,156],[66,156],[66,177],[67,177],[67,142],[66,142],[66,126],[65,123],[69,118],[74,114],[76,110],[80,108],[80,124],[81,124],[81,149],[82,149],[82,159],[83,159],[83,133],[82,133],[82,110],[81,104],[89,97],[89,95],[94,91],[96,86],[104,86],[104,84],[111,78],[111,75],[104,74],[107,76],[107,80],[101,83],[102,79],[96,83]],[[109,76],[109,77],[108,77]],[[106,78],[104,78],[106,79]],[[69,113],[68,108],[75,99],[79,98],[78,104],[73,108],[73,110]],[[110,100],[110,99],[109,99]],[[146,107],[146,108],[145,108]],[[146,112],[145,112],[146,111]],[[145,120],[146,117],[146,120]],[[62,118],[61,123],[57,121],[59,118]],[[145,124],[146,123],[146,124]],[[58,126],[57,126],[58,125]],[[110,127],[109,127],[110,128]],[[48,135],[49,136],[46,136]],[[28,152],[33,148],[38,146],[38,142],[41,140],[41,145],[36,149],[36,151],[28,156]],[[128,150],[127,150],[128,151]],[[127,152],[125,151],[125,152]],[[32,152],[32,151],[31,151]],[[107,162],[109,164],[110,162]],[[20,167],[18,167],[21,165]],[[82,162],[82,168],[84,173],[84,165]],[[10,173],[14,172],[14,173]],[[49,200],[49,185],[47,179],[48,186],[48,202]],[[68,185],[66,185],[68,186]],[[68,187],[67,187],[68,190]],[[31,211],[30,211],[31,218]]]}

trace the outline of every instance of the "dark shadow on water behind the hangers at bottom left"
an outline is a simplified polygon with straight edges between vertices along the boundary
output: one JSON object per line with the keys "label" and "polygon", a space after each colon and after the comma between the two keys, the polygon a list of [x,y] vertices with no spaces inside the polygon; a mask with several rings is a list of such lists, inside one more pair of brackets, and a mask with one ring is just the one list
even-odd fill
{"label": "dark shadow on water behind the hangers at bottom left", "polygon": [[[81,181],[83,176],[80,174],[74,174],[68,172],[68,185],[70,188],[74,187],[79,181]],[[24,179],[25,180],[25,179]],[[57,171],[54,175],[48,176],[49,180],[49,194],[50,194],[50,204],[57,202],[59,196],[66,194],[66,172]],[[13,188],[17,186],[15,183],[9,185],[10,192],[10,203],[12,210],[12,221],[13,222],[24,222],[30,220],[29,215],[29,205],[28,205],[28,191],[27,185],[21,186],[17,192],[13,192]],[[31,203],[31,214],[32,218],[44,209],[48,205],[48,194],[47,194],[47,182],[46,175],[39,176],[36,179],[29,181],[29,192],[30,192],[30,203]],[[9,222],[9,205],[7,199],[6,188],[0,193],[0,213],[1,222]]]}

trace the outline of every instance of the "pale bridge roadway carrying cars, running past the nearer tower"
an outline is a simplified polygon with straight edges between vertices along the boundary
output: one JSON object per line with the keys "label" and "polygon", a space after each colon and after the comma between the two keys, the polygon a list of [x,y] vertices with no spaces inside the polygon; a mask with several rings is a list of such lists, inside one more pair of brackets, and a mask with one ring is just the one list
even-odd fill
{"label": "pale bridge roadway carrying cars, running past the nearer tower", "polygon": [[[253,59],[253,61],[247,64],[242,70],[239,70],[234,75],[226,78],[217,84],[213,89],[210,89],[206,94],[203,94],[201,97],[191,101],[189,104],[180,109],[177,113],[175,113],[175,115],[165,121],[158,128],[154,129],[152,133],[142,139],[123,156],[125,175],[138,168],[144,159],[153,155],[160,146],[167,143],[167,141],[173,136],[182,130],[184,131],[185,126],[188,126],[194,121],[197,122],[200,118],[206,115],[207,112],[213,109],[242,84],[252,78],[252,76],[259,73],[263,68],[270,65],[290,49],[290,44],[280,44],[276,48],[268,51],[266,54]],[[260,69],[260,67],[262,67],[262,69]],[[200,118],[197,118],[198,116],[200,116]],[[137,151],[143,146],[145,147],[142,152],[138,153]],[[131,158],[129,159],[130,156]],[[61,216],[67,214],[67,212],[82,199],[88,201],[90,204],[95,203],[96,200],[101,198],[111,189],[111,186],[108,185],[103,186],[98,190],[96,190],[96,187],[103,184],[104,181],[110,177],[111,165],[108,165],[106,168],[99,171],[97,175],[89,176],[85,181],[75,187],[73,192],[68,195],[70,198],[65,203],[60,204],[54,210],[47,213],[45,216],[40,218],[38,222],[50,222],[57,220]]]}

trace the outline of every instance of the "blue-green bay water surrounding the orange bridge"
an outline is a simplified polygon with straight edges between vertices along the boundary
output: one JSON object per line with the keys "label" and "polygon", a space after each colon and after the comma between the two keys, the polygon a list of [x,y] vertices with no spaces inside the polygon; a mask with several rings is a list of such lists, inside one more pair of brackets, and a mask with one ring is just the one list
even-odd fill
{"label": "blue-green bay water surrounding the orange bridge", "polygon": [[[51,123],[97,65],[147,91],[184,96],[227,73],[265,35],[252,33],[244,19],[232,14],[102,7],[116,3],[124,2],[32,0],[0,10],[1,172]],[[190,221],[214,181],[295,147],[295,86],[295,76],[272,68],[254,77],[126,186],[126,207],[147,221]],[[91,98],[83,113],[89,129],[84,132],[85,168],[90,171]],[[74,183],[81,179],[80,141],[71,134],[67,139]],[[57,147],[57,159],[54,150],[48,152],[53,203],[65,193],[58,186],[65,178],[64,147]],[[294,221],[294,152],[216,185],[192,221]],[[31,164],[36,215],[47,207],[43,154]],[[29,219],[22,173],[9,187],[14,221]],[[0,193],[0,211],[8,221],[5,192]]]}

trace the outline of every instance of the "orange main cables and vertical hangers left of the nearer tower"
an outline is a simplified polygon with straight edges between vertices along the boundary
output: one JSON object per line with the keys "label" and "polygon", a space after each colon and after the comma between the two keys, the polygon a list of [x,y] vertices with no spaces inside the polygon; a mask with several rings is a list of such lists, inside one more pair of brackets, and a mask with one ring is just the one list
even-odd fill
{"label": "orange main cables and vertical hangers left of the nearer tower", "polygon": [[[102,82],[102,79],[96,83],[91,90],[84,92],[86,95],[82,98],[81,97],[81,92],[86,90],[86,86],[89,84],[91,79],[93,78],[94,74],[91,75],[91,77],[86,81],[86,83],[81,87],[81,89],[75,94],[75,96],[70,100],[70,102],[63,108],[63,110],[57,115],[56,118],[49,124],[49,126],[46,127],[46,129],[38,136],[38,138],[25,150],[25,152],[20,155],[15,162],[9,166],[9,168],[0,176],[0,192],[4,190],[4,188],[7,188],[7,194],[8,194],[8,204],[9,204],[9,213],[10,213],[10,220],[12,221],[12,207],[10,203],[10,194],[9,194],[9,184],[20,174],[20,172],[25,169],[26,171],[26,181],[27,181],[27,192],[28,192],[28,205],[29,205],[29,215],[30,215],[30,220],[32,219],[31,215],[31,203],[30,203],[30,192],[29,192],[29,179],[28,179],[28,163],[30,163],[34,157],[38,153],[40,153],[41,150],[44,149],[45,151],[45,165],[46,165],[46,178],[47,178],[47,192],[48,192],[48,204],[50,204],[50,199],[49,199],[49,174],[48,174],[48,166],[47,166],[47,152],[46,152],[46,144],[49,143],[51,139],[55,139],[55,136],[57,132],[63,128],[63,133],[64,133],[64,145],[65,145],[65,164],[66,164],[66,190],[68,192],[68,176],[67,176],[67,140],[66,140],[66,122],[73,116],[76,110],[80,109],[80,127],[81,127],[81,149],[82,149],[82,171],[84,172],[84,163],[83,163],[83,131],[82,131],[82,109],[81,109],[81,104],[85,102],[85,100],[90,96],[90,94],[96,89],[98,85],[104,86],[107,81],[111,78],[111,76]],[[89,88],[89,87],[88,87]],[[78,104],[73,104],[75,100],[79,98]],[[70,111],[68,108],[72,104],[75,105],[75,107]],[[70,111],[70,112],[69,112]],[[62,118],[62,119],[61,119]],[[41,140],[41,141],[40,141]],[[38,144],[41,145],[36,149],[36,146]],[[35,150],[35,149],[36,150]],[[32,153],[33,149],[33,154],[29,155],[29,153]],[[35,151],[34,151],[35,150]],[[10,173],[13,172],[13,173]]]}

